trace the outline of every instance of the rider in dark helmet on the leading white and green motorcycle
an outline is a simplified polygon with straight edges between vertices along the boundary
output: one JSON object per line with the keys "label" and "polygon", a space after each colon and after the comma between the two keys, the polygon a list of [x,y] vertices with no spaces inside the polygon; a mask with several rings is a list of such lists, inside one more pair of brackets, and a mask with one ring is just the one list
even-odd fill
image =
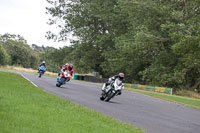
{"label": "rider in dark helmet on the leading white and green motorcycle", "polygon": [[[105,95],[105,93],[107,92],[107,86],[110,85],[110,84],[113,84],[115,82],[116,79],[119,79],[122,81],[122,89],[124,89],[124,83],[125,83],[125,80],[124,80],[124,73],[119,73],[118,75],[115,75],[115,76],[112,76],[111,78],[108,79],[108,82],[104,83],[103,87],[102,87],[102,96]],[[120,91],[118,93],[118,95],[121,95],[122,92]]]}

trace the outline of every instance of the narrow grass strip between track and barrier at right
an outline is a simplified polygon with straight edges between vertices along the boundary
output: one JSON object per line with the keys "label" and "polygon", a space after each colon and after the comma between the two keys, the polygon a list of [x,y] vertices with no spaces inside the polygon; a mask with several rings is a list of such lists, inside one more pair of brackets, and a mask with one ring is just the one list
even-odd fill
{"label": "narrow grass strip between track and barrier at right", "polygon": [[156,93],[156,92],[144,91],[144,90],[138,90],[138,89],[132,89],[132,88],[126,88],[126,90],[142,93],[142,94],[149,95],[152,97],[157,97],[157,98],[164,99],[167,101],[171,101],[171,102],[175,102],[175,103],[179,103],[179,104],[200,109],[200,99],[188,98],[188,97],[176,96],[176,95],[170,95],[170,94],[163,94],[163,93]]}

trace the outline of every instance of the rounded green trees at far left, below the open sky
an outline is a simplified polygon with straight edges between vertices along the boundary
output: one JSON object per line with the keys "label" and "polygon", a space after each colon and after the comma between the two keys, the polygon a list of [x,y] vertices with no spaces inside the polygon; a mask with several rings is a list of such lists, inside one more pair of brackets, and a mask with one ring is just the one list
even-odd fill
{"label": "rounded green trees at far left, below the open sky", "polygon": [[37,68],[39,55],[34,52],[20,35],[0,35],[0,65],[20,65]]}

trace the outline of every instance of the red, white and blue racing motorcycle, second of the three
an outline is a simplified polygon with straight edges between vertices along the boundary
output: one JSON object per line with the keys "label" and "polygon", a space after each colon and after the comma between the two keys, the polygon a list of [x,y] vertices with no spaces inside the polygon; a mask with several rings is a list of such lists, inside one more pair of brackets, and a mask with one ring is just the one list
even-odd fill
{"label": "red, white and blue racing motorcycle, second of the three", "polygon": [[68,82],[70,78],[71,78],[71,74],[69,73],[69,71],[62,72],[62,74],[60,74],[57,78],[56,86],[60,87],[61,85]]}

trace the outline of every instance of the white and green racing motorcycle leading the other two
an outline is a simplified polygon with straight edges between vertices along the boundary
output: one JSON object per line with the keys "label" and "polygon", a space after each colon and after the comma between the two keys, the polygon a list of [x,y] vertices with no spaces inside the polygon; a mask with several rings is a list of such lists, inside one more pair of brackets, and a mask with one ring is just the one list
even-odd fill
{"label": "white and green racing motorcycle leading the other two", "polygon": [[100,100],[109,102],[111,98],[121,93],[123,86],[122,81],[117,78],[114,83],[107,86],[106,92],[100,97]]}

